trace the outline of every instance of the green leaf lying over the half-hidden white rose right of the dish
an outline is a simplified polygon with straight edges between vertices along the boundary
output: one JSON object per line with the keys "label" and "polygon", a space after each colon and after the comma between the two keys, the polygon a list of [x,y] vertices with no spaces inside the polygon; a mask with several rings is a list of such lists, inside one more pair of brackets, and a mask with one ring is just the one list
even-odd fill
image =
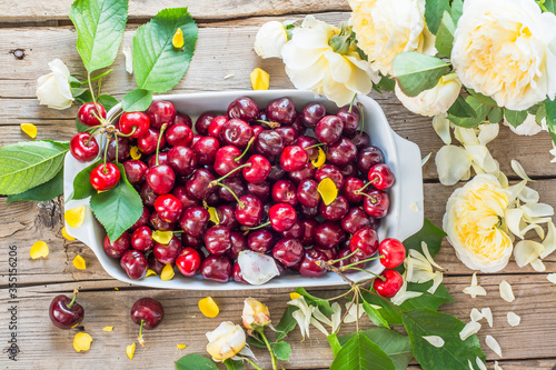
{"label": "green leaf lying over the half-hidden white rose right of the dish", "polygon": [[441,59],[416,51],[401,52],[394,59],[394,74],[409,97],[434,88],[449,70],[450,66]]}

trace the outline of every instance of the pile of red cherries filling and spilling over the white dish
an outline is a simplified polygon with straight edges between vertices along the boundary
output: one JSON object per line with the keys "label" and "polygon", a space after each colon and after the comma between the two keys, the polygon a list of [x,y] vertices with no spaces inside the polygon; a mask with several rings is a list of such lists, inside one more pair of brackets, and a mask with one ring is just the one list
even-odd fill
{"label": "pile of red cherries filling and spilling over the white dish", "polygon": [[[95,127],[106,112],[88,103],[78,118]],[[226,113],[205,112],[195,124],[169,101],[123,113],[115,124],[120,136],[106,148],[107,163],[90,180],[95,189],[110,190],[120,181],[112,163],[119,161],[143,211],[128,232],[105,239],[106,253],[120,259],[131,279],[171,264],[186,277],[218,282],[246,282],[237,262],[244,250],[271,256],[280,273],[304,277],[324,276],[328,261],[349,273],[379,259],[388,269],[375,289],[393,297],[403,279],[391,269],[404,261],[405,248],[396,239],[379,242],[376,229],[388,213],[395,176],[358,130],[360,121],[356,106],[331,114],[309,102],[298,111],[288,98],[261,109],[241,97]],[[70,148],[81,161],[99,153],[87,132]],[[139,159],[130,158],[133,150]],[[319,188],[325,179],[337,189],[328,203]],[[157,230],[173,236],[162,244],[152,239]]]}

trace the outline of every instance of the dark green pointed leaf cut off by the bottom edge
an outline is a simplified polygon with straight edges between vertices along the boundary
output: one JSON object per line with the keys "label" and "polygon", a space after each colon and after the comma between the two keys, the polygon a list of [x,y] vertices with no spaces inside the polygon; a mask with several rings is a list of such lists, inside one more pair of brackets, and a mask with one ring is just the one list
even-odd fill
{"label": "dark green pointed leaf cut off by the bottom edge", "polygon": [[393,360],[365,334],[356,333],[344,344],[330,370],[395,370]]}

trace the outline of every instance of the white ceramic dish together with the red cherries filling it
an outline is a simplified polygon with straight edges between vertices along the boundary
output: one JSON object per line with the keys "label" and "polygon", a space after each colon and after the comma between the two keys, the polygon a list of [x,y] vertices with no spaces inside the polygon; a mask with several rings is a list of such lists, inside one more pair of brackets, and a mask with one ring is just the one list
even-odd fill
{"label": "white ceramic dish together with the red cherries filling it", "polygon": [[[391,273],[405,257],[398,240],[423,226],[420,152],[391,130],[374,99],[338,108],[300,90],[160,96],[147,111],[116,121],[128,137],[111,139],[106,151],[100,140],[92,154],[76,144],[63,179],[66,208],[87,206],[85,222],[67,226],[68,233],[113,278],[153,288],[260,288],[247,283],[238,263],[255,252],[279,271],[265,288],[342,284],[322,268],[328,261],[354,280],[371,272],[399,283]],[[69,199],[90,164],[83,158],[98,152],[122,164],[143,203],[115,241],[87,199]],[[98,172],[90,180],[100,191],[120,179]],[[169,241],[153,238],[168,231]],[[161,280],[168,264],[175,278]],[[146,277],[148,269],[157,276]],[[388,294],[384,286],[376,288]]]}

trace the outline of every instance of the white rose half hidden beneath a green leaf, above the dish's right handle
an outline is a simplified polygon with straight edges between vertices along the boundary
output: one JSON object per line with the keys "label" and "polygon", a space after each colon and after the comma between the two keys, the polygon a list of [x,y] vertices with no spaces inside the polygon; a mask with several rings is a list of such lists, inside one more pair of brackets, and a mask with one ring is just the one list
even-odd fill
{"label": "white rose half hidden beneath a green leaf, above the dish's right handle", "polygon": [[444,76],[437,86],[423,91],[416,97],[406,96],[396,83],[396,97],[398,97],[404,107],[414,113],[428,117],[446,113],[456,101],[460,90],[461,82],[456,73]]}

